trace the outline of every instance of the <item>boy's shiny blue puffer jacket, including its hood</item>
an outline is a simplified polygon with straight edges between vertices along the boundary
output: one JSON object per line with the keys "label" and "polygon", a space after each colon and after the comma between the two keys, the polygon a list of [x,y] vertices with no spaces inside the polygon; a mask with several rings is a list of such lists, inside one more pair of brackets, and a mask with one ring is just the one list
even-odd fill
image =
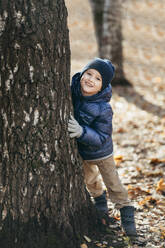
{"label": "boy's shiny blue puffer jacket, including its hood", "polygon": [[76,73],[72,78],[71,90],[74,117],[83,127],[83,134],[77,138],[80,155],[84,160],[94,160],[112,154],[111,86],[93,96],[83,96],[80,73]]}

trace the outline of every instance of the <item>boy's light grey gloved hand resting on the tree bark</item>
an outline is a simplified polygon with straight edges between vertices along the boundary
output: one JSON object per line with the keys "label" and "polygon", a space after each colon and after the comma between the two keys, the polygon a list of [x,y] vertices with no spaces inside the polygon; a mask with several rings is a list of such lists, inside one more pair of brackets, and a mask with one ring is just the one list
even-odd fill
{"label": "boy's light grey gloved hand resting on the tree bark", "polygon": [[79,123],[71,116],[68,123],[68,131],[70,132],[71,138],[79,138],[83,133],[83,128],[79,125]]}

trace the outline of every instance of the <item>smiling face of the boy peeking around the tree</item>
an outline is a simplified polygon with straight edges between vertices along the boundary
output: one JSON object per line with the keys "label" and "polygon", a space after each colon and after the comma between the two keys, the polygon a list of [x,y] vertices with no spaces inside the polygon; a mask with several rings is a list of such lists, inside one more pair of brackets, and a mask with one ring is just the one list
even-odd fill
{"label": "smiling face of the boy peeking around the tree", "polygon": [[102,77],[95,69],[88,69],[82,75],[80,85],[83,96],[95,95],[102,88]]}

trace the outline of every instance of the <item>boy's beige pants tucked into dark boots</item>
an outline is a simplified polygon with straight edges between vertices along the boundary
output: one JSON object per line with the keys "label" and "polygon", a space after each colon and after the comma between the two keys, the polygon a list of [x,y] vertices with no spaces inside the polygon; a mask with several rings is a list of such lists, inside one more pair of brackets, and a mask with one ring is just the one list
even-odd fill
{"label": "boy's beige pants tucked into dark boots", "polygon": [[109,197],[117,209],[131,205],[128,193],[119,179],[113,156],[98,161],[84,161],[83,165],[85,184],[92,197],[98,197],[103,193],[104,182]]}

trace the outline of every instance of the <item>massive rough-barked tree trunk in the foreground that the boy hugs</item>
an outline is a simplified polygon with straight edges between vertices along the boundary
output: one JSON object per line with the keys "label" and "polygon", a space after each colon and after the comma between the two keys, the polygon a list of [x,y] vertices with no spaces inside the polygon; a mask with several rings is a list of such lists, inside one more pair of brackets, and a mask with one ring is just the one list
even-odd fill
{"label": "massive rough-barked tree trunk in the foreground that the boy hugs", "polygon": [[93,209],[67,133],[69,73],[64,1],[1,0],[3,248],[79,247],[81,236],[90,231]]}

